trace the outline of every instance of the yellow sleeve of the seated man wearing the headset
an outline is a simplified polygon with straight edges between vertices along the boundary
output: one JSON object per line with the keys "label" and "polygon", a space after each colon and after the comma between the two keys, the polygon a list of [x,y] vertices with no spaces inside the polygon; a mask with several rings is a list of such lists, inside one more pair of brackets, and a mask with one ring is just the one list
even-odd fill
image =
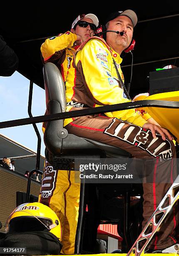
{"label": "yellow sleeve of the seated man wearing the headset", "polygon": [[[101,61],[97,54],[103,54],[105,61]],[[76,55],[75,64],[81,61],[86,86],[94,97],[97,105],[112,105],[130,102],[124,97],[123,90],[119,87],[117,79],[109,74],[114,71],[112,56],[107,47],[99,40],[90,40]],[[105,69],[104,69],[105,68]],[[117,76],[116,76],[117,77]],[[134,109],[105,113],[109,117],[116,117],[143,126],[147,123]]]}

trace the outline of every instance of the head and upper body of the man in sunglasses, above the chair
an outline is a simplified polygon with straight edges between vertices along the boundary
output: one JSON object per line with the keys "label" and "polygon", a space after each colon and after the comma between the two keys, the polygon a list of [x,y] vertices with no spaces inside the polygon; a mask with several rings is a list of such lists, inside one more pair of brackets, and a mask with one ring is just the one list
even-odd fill
{"label": "head and upper body of the man in sunglasses, above the chair", "polygon": [[93,36],[98,24],[97,16],[92,13],[78,15],[70,31],[45,40],[40,48],[42,62],[54,63],[59,68],[65,82],[75,51],[80,44]]}

